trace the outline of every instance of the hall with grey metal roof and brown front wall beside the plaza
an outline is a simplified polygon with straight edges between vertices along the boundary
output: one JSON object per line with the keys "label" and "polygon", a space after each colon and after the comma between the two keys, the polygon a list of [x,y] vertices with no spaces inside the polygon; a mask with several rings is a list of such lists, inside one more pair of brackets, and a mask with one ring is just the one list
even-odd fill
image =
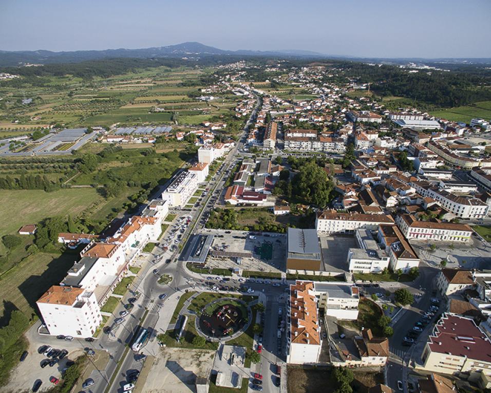
{"label": "hall with grey metal roof and brown front wall beside the plaza", "polygon": [[317,232],[314,229],[288,228],[287,269],[318,271],[321,263]]}

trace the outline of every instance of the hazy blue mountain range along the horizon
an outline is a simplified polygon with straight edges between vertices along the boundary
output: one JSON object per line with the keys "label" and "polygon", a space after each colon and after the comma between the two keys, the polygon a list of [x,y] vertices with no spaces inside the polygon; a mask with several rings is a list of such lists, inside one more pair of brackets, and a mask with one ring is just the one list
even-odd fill
{"label": "hazy blue mountain range along the horizon", "polygon": [[362,62],[387,62],[404,64],[409,61],[417,62],[439,62],[453,64],[489,64],[490,59],[383,59],[383,58],[355,58],[349,56],[327,55],[308,50],[223,50],[213,46],[200,44],[199,42],[184,42],[177,45],[160,46],[144,49],[105,49],[105,50],[76,50],[69,52],[52,52],[49,50],[23,50],[3,51],[0,50],[0,67],[17,66],[24,63],[53,64],[53,63],[78,63],[87,60],[108,58],[182,58],[182,57],[206,57],[206,56],[262,56],[282,58],[324,58],[344,59]]}

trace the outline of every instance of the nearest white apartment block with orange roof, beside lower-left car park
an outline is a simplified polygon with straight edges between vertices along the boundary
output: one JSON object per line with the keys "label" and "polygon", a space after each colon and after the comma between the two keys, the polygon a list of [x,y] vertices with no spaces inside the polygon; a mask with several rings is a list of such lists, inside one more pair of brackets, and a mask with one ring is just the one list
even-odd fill
{"label": "nearest white apartment block with orange roof, beside lower-left car park", "polygon": [[92,337],[102,322],[95,293],[83,288],[52,286],[36,304],[51,335]]}

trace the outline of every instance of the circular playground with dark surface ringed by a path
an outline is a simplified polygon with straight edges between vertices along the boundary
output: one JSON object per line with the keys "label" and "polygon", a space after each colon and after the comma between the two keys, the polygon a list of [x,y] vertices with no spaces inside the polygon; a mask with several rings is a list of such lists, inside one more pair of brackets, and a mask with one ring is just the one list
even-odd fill
{"label": "circular playground with dark surface ringed by a path", "polygon": [[196,330],[209,341],[228,341],[242,334],[250,325],[252,311],[237,298],[220,298],[201,309]]}

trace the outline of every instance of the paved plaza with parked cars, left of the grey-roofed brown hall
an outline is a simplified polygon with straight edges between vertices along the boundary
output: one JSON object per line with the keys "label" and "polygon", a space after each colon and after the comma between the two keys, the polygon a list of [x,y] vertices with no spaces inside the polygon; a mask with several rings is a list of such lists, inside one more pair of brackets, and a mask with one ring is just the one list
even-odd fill
{"label": "paved plaza with parked cars, left of the grey-roofed brown hall", "polygon": [[[261,235],[242,231],[206,230],[215,235],[210,251],[223,251],[228,256],[207,258],[212,268],[284,272],[286,268],[286,236],[279,233]],[[240,260],[233,255],[240,255]],[[238,263],[239,262],[239,263]]]}

